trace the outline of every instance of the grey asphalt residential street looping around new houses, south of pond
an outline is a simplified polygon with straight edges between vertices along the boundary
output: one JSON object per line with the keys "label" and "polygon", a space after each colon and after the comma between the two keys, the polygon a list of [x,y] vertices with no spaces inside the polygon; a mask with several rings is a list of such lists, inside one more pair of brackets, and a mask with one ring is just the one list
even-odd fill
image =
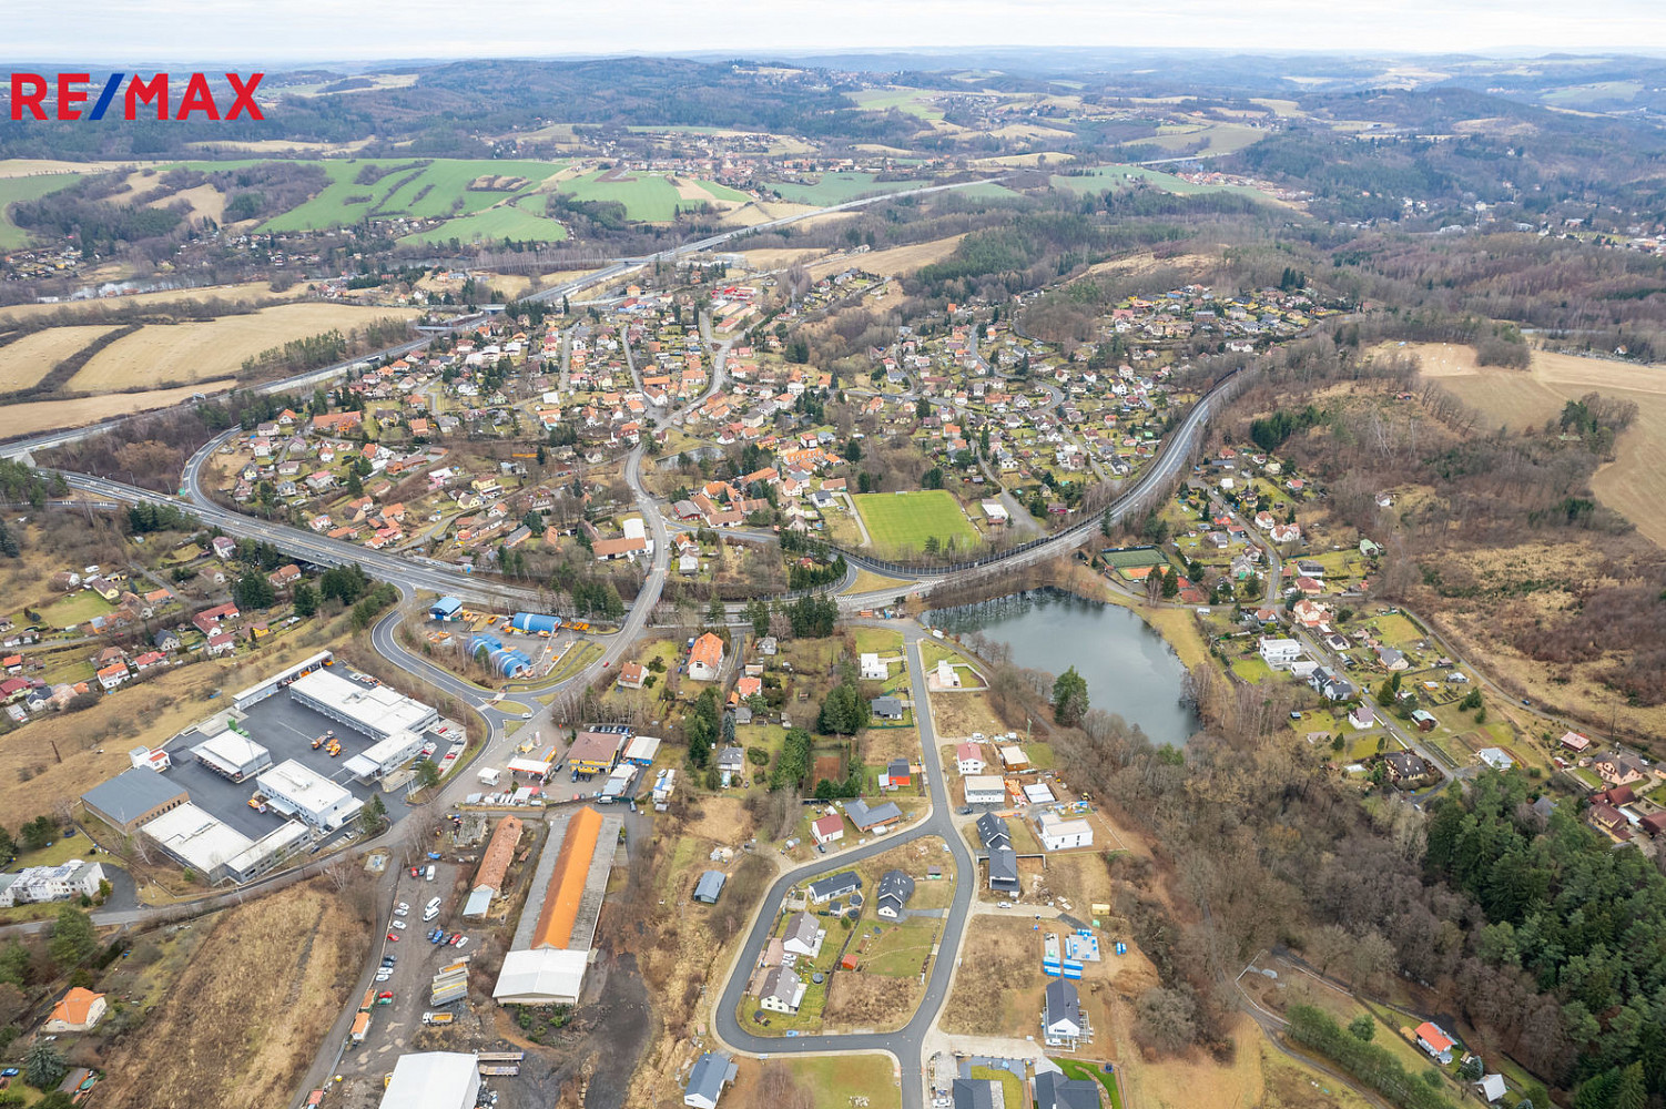
{"label": "grey asphalt residential street looping around new houses, south of pond", "polygon": [[[965,936],[966,918],[971,911],[971,894],[978,888],[978,863],[973,859],[971,851],[966,848],[966,841],[955,826],[951,816],[953,809],[948,801],[948,789],[943,783],[943,766],[938,758],[938,738],[931,719],[931,701],[926,696],[926,674],[920,658],[920,641],[928,636],[918,624],[905,624],[903,638],[903,651],[908,658],[908,684],[915,701],[915,719],[920,726],[921,766],[925,766],[926,781],[930,784],[931,808],[926,813],[926,818],[913,828],[890,836],[880,836],[861,848],[816,856],[815,861],[781,874],[781,878],[770,886],[770,893],[765,894],[758,916],[753,919],[751,931],[746,934],[746,942],[741,947],[735,966],[730,969],[728,981],[723,984],[723,992],[716,1002],[713,1024],[718,1039],[730,1047],[755,1056],[818,1054],[828,1051],[888,1052],[896,1057],[901,1071],[903,1109],[921,1109],[925,1106],[925,1072],[921,1066],[925,1037],[936,1022],[938,1012],[943,1009],[943,1002],[948,1001],[950,979],[955,974],[960,941]],[[920,839],[921,836],[941,836],[943,843],[946,843],[953,853],[955,901],[950,904],[948,914],[943,918],[943,934],[938,937],[938,946],[933,952],[931,972],[926,979],[925,996],[908,1024],[896,1032],[796,1036],[791,1039],[778,1036],[753,1036],[751,1032],[741,1031],[740,1021],[735,1014],[740,1009],[741,997],[746,989],[746,979],[751,976],[751,967],[756,966],[758,956],[763,951],[765,942],[770,939],[770,932],[775,931],[776,913],[781,901],[786,898],[786,891],[791,886],[808,881],[818,874],[843,869],[860,863],[861,859],[873,858],[890,851],[891,848]]]}

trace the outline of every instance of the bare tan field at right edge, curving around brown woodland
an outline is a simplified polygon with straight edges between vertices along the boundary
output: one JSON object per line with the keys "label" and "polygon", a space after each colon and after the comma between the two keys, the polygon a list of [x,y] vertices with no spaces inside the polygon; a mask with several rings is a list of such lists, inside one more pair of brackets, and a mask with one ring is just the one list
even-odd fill
{"label": "bare tan field at right edge, curving around brown woodland", "polygon": [[1596,498],[1626,516],[1638,531],[1666,546],[1666,366],[1634,366],[1601,358],[1533,351],[1526,373],[1476,366],[1474,350],[1444,343],[1406,346],[1423,360],[1423,376],[1438,381],[1489,421],[1513,428],[1541,425],[1563,403],[1584,393],[1636,401],[1638,420],[1619,436],[1618,458],[1591,478]]}

